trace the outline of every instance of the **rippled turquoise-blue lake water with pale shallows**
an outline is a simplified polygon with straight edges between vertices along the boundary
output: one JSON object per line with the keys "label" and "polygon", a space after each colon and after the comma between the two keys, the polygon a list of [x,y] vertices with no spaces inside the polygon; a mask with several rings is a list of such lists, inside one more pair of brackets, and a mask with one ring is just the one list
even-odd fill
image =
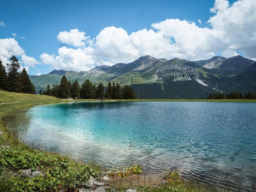
{"label": "rippled turquoise-blue lake water with pale shallows", "polygon": [[[4,118],[28,143],[106,167],[256,186],[256,103],[98,102],[22,108]],[[129,147],[129,145],[132,145]]]}

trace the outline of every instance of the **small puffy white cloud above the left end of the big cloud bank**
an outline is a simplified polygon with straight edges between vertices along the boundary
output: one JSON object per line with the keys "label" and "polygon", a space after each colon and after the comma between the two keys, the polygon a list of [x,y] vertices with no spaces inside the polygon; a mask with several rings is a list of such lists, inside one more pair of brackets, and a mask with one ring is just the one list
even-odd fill
{"label": "small puffy white cloud above the left end of the big cloud bank", "polygon": [[70,32],[59,32],[57,38],[58,41],[61,43],[73,45],[74,47],[82,47],[85,46],[85,41],[88,40],[90,37],[85,36],[85,32],[83,31],[79,32],[78,29],[71,29]]}

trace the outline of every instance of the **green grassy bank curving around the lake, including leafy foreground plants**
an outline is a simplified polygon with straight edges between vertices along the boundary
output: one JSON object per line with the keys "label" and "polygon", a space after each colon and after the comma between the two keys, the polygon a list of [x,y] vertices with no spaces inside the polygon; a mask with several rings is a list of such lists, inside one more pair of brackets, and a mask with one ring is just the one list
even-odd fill
{"label": "green grassy bank curving around the lake, including leafy foreground plants", "polygon": [[[92,100],[80,100],[92,101]],[[111,100],[108,100],[111,101]],[[116,100],[116,101],[207,101],[208,100]],[[217,101],[217,100],[209,100]],[[229,100],[230,102],[231,100]],[[67,156],[51,152],[43,152],[26,145],[16,136],[9,133],[7,127],[2,125],[2,117],[20,107],[43,105],[51,103],[66,103],[70,100],[58,99],[51,96],[18,94],[0,91],[0,192],[2,191],[78,191],[79,188],[88,187],[90,176],[99,178],[101,168],[94,163],[82,163]],[[218,100],[217,102],[223,102]],[[246,100],[232,100],[231,102],[248,102]],[[251,102],[251,100],[250,100]],[[256,100],[254,100],[256,102]],[[21,170],[30,168],[38,170],[43,175],[34,178],[20,177]],[[16,174],[16,175],[15,175]],[[167,174],[164,179],[153,181],[145,179],[144,173],[120,177],[112,175],[109,186],[116,191],[125,191],[136,187],[137,191],[175,191],[175,192],[202,192],[212,191],[204,185],[186,182],[180,179],[177,172]],[[152,178],[151,178],[152,179]],[[164,182],[163,182],[164,181]]]}

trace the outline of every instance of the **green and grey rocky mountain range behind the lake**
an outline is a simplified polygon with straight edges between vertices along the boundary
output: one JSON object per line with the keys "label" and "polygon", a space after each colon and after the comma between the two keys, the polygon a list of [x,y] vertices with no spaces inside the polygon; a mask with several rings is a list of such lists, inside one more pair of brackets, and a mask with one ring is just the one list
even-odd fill
{"label": "green and grey rocky mountain range behind the lake", "polygon": [[131,85],[138,98],[206,98],[211,92],[256,92],[256,63],[243,56],[189,61],[141,56],[132,63],[100,65],[90,71],[54,70],[49,74],[29,76],[36,90],[47,84],[86,79],[97,83],[116,82]]}

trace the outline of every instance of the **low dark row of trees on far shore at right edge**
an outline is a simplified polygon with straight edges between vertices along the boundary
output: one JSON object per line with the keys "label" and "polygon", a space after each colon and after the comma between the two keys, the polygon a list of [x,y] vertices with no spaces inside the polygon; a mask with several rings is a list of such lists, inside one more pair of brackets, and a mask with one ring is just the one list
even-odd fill
{"label": "low dark row of trees on far shore at right edge", "polygon": [[226,95],[223,93],[211,93],[207,96],[207,99],[256,99],[256,95],[252,92],[246,93],[245,95],[238,92],[231,92]]}

